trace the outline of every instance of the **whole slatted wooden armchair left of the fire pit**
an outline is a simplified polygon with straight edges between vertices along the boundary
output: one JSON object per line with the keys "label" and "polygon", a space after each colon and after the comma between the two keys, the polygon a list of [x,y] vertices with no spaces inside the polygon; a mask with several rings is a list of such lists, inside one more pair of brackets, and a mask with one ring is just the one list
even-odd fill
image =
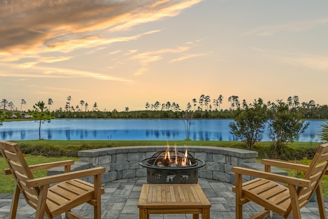
{"label": "whole slatted wooden armchair left of the fire pit", "polygon": [[[66,212],[67,218],[83,218],[71,209],[83,203],[94,206],[94,218],[101,216],[100,195],[105,192],[101,188],[101,174],[104,168],[92,168],[81,171],[71,171],[74,161],[53,162],[28,166],[17,144],[0,141],[0,150],[8,163],[5,174],[12,174],[16,182],[9,218],[16,218],[19,193],[22,192],[27,204],[36,210],[35,218],[44,216],[53,218]],[[34,178],[31,171],[53,167],[65,167],[65,173]],[[94,184],[78,178],[93,176]],[[50,187],[50,184],[56,185]]]}

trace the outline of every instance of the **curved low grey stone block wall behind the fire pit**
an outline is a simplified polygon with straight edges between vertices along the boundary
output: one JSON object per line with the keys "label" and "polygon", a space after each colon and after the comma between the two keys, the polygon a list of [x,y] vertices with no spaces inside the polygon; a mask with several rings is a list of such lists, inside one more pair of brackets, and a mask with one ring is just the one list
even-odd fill
{"label": "curved low grey stone block wall behind the fire pit", "polygon": [[[75,162],[72,171],[104,167],[106,171],[102,175],[103,183],[121,180],[122,178],[142,177],[146,176],[147,172],[146,168],[140,166],[139,161],[151,157],[157,151],[166,149],[167,146],[133,146],[79,151],[80,162]],[[177,149],[186,150],[185,146],[177,146]],[[234,184],[234,173],[231,172],[231,168],[234,166],[264,170],[263,165],[255,162],[255,158],[258,156],[255,151],[210,146],[188,146],[188,152],[195,158],[206,162],[206,165],[199,169],[200,178]],[[53,168],[48,171],[48,175],[58,174],[63,171],[63,168]],[[272,168],[271,171],[286,175],[284,171],[276,168]],[[91,177],[86,180],[92,181],[92,179]],[[244,176],[244,180],[251,180],[251,177]]]}

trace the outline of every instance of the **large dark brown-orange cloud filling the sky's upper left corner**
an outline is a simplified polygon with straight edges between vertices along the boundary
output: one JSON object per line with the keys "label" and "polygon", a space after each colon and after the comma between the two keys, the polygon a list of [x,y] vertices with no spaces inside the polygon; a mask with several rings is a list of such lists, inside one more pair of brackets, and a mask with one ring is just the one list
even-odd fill
{"label": "large dark brown-orange cloud filling the sky's upper left corner", "polygon": [[136,38],[105,35],[176,16],[201,1],[3,1],[0,3],[0,55],[70,52],[130,41]]}

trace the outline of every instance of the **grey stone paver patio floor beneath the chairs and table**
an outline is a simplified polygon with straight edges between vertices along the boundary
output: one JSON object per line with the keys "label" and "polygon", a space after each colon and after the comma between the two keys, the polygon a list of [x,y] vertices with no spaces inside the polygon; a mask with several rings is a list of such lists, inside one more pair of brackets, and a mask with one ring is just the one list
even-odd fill
{"label": "grey stone paver patio floor beneath the chairs and table", "polygon": [[[146,177],[117,180],[103,185],[105,194],[101,196],[101,218],[104,219],[138,219],[137,207],[142,184],[146,184]],[[211,218],[235,218],[235,195],[231,191],[232,184],[215,180],[199,178],[198,184],[207,195],[212,207]],[[11,194],[0,194],[0,218],[8,218],[11,204]],[[325,207],[328,214],[328,198],[325,197]],[[243,206],[243,217],[249,218],[262,208],[254,203]],[[93,218],[93,207],[85,204],[73,209],[86,219]],[[16,219],[34,218],[35,210],[26,204],[25,200],[19,200]],[[320,218],[317,202],[310,202],[301,209],[302,219]],[[199,216],[201,218],[201,215]],[[55,217],[65,218],[65,215]],[[150,219],[192,218],[191,214],[151,214]],[[282,218],[278,215],[270,215],[269,218]]]}

